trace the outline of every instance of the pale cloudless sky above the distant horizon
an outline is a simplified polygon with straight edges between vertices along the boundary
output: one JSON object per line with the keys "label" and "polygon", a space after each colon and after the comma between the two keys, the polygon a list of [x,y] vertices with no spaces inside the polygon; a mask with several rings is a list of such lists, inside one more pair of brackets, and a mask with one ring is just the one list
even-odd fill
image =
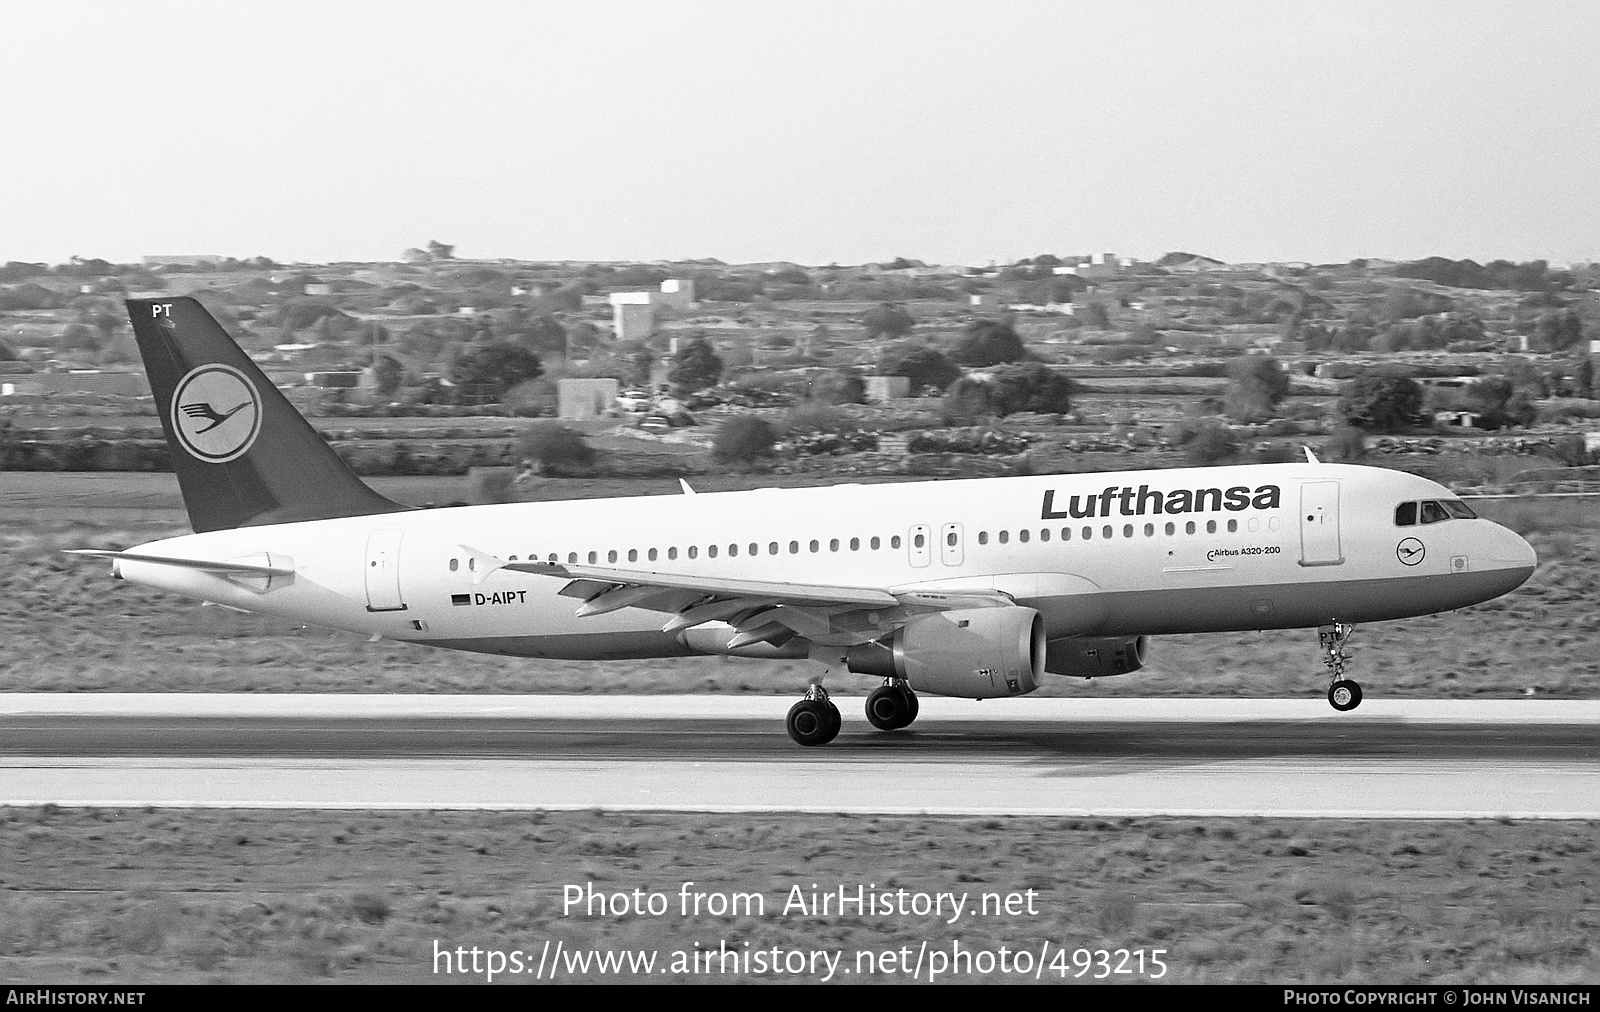
{"label": "pale cloudless sky above the distant horizon", "polygon": [[1600,3],[0,0],[0,261],[1600,259]]}

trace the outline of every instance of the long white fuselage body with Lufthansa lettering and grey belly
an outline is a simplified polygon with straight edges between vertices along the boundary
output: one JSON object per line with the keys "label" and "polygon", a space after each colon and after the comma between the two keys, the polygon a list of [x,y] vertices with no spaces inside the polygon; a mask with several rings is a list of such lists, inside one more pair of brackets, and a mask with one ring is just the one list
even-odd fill
{"label": "long white fuselage body with Lufthansa lettering and grey belly", "polygon": [[1397,527],[1397,504],[1450,498],[1405,472],[1307,463],[462,506],[134,549],[286,560],[291,576],[131,559],[118,573],[251,612],[526,657],[701,647],[662,632],[669,616],[654,610],[581,618],[581,602],[558,596],[568,580],[485,573],[475,552],[891,592],[1000,591],[1037,608],[1051,639],[1298,628],[1464,607],[1526,580],[1533,551],[1496,524]]}

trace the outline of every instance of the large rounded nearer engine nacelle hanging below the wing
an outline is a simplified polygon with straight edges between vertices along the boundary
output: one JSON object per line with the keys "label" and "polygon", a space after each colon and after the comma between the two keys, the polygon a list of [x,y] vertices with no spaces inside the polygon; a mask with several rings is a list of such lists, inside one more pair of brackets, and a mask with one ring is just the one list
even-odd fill
{"label": "large rounded nearer engine nacelle hanging below the wing", "polygon": [[851,647],[858,674],[901,677],[918,692],[986,700],[1038,689],[1045,620],[1034,608],[963,608],[925,615],[875,644]]}

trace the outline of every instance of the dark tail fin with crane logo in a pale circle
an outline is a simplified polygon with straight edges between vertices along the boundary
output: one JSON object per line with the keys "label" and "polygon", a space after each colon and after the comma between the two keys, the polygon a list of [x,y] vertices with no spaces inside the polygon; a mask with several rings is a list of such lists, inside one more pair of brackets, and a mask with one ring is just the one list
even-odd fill
{"label": "dark tail fin with crane logo in a pale circle", "polygon": [[350,471],[192,298],[128,299],[195,532],[408,509]]}

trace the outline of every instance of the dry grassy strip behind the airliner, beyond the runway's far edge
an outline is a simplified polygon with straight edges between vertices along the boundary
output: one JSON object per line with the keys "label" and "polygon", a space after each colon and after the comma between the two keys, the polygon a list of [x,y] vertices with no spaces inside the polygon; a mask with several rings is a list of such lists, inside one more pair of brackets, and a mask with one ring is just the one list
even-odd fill
{"label": "dry grassy strip behind the airliner, beyond the runway's far edge", "polygon": [[[610,492],[610,485],[600,485]],[[1539,570],[1518,591],[1461,612],[1357,629],[1352,674],[1371,697],[1600,697],[1600,506],[1594,500],[1490,503],[1525,532]],[[178,533],[42,519],[0,532],[5,692],[763,692],[794,693],[808,661],[682,658],[534,661],[368,642],[360,636],[141,589],[62,548],[128,546]],[[875,679],[835,674],[867,692]],[[1315,634],[1157,639],[1122,679],[1051,677],[1045,695],[1317,697]]]}

